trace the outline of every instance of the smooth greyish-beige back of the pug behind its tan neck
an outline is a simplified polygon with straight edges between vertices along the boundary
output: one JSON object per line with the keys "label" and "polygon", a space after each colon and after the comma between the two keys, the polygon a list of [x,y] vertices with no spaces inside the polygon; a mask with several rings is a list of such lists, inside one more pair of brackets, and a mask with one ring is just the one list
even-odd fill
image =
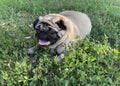
{"label": "smooth greyish-beige back of the pug behind its tan neck", "polygon": [[69,18],[77,26],[77,35],[81,39],[90,33],[92,25],[86,14],[77,11],[63,11],[60,14]]}

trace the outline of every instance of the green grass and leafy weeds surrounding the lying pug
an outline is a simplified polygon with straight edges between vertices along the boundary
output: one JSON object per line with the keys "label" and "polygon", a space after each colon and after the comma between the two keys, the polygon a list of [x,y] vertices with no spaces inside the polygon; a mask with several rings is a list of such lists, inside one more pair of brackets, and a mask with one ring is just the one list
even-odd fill
{"label": "green grass and leafy weeds surrounding the lying pug", "polygon": [[[62,62],[36,44],[29,28],[38,16],[64,10],[91,18],[89,38]],[[31,36],[31,39],[25,37]],[[0,86],[119,86],[120,0],[0,0]]]}

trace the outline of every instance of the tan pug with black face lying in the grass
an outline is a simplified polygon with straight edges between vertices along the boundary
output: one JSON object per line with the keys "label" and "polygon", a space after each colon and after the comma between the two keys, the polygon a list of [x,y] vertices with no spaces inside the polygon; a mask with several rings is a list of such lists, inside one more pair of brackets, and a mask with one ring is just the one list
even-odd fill
{"label": "tan pug with black face lying in the grass", "polygon": [[[31,25],[35,30],[35,37],[42,47],[48,46],[52,55],[64,58],[65,47],[69,43],[77,42],[77,37],[84,39],[91,32],[90,18],[78,11],[63,11],[40,16]],[[28,49],[34,53],[34,47]]]}

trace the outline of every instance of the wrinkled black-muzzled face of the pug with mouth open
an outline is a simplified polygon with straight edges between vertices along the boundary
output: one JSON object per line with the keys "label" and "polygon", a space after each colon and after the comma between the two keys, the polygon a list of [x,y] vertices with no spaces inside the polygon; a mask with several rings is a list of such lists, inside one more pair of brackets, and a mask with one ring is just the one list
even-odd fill
{"label": "wrinkled black-muzzled face of the pug with mouth open", "polygon": [[36,32],[35,36],[38,39],[38,44],[42,46],[53,45],[64,36],[66,31],[63,21],[53,22],[46,17],[36,19],[33,22],[33,27]]}

